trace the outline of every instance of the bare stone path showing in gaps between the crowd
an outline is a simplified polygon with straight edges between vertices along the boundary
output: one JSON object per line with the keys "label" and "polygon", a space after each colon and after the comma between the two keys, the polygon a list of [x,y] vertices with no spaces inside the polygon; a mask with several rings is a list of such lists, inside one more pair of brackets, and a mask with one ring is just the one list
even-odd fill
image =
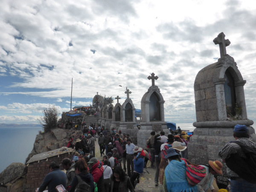
{"label": "bare stone path showing in gaps between the crowd", "polygon": [[[99,145],[98,145],[98,138],[97,141],[95,142],[95,154],[96,158],[98,160],[102,160],[103,156],[100,157],[100,152],[99,152]],[[163,192],[163,186],[154,185],[154,175],[155,175],[156,169],[151,169],[151,168],[145,168],[143,174],[140,177],[140,183],[138,183],[135,187],[135,192]]]}

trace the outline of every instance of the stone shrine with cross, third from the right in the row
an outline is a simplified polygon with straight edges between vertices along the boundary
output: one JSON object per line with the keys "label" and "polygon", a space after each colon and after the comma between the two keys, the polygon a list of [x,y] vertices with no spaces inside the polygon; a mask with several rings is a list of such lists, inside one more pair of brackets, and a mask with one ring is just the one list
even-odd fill
{"label": "stone shrine with cross, third from the right in the row", "polygon": [[135,107],[132,100],[130,99],[131,91],[127,89],[127,87],[125,93],[127,95],[127,99],[125,99],[125,102],[122,104],[120,108],[121,121],[118,130],[121,130],[122,133],[130,134],[130,137],[133,140],[133,142],[137,144],[138,128],[136,126],[137,123],[135,121]]}

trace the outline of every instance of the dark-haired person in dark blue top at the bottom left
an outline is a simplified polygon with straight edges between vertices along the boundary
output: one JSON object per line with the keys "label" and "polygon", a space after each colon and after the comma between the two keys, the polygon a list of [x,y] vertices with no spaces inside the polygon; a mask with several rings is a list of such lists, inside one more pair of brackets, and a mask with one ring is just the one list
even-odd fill
{"label": "dark-haired person in dark blue top at the bottom left", "polygon": [[58,185],[63,185],[67,188],[67,176],[61,171],[59,164],[52,161],[49,165],[49,173],[44,177],[44,181],[38,189],[38,192],[43,192],[48,187],[48,192],[57,192],[55,189]]}

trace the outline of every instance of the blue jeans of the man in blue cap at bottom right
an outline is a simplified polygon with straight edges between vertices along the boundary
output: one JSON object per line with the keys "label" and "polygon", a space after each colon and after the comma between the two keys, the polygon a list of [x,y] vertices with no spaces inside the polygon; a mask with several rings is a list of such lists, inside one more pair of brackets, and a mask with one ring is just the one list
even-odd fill
{"label": "blue jeans of the man in blue cap at bottom right", "polygon": [[239,178],[239,180],[230,180],[231,192],[256,192],[256,183]]}

